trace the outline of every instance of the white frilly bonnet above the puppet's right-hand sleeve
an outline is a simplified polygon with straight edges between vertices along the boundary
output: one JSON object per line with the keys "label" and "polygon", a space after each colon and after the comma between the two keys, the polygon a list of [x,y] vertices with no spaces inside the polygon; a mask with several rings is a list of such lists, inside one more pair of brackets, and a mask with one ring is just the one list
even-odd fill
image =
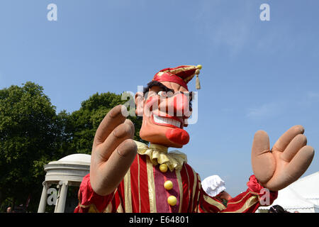
{"label": "white frilly bonnet above the puppet's right-hand sleeve", "polygon": [[220,192],[223,192],[226,189],[225,182],[218,175],[213,175],[203,179],[201,187],[203,187],[203,190],[212,197],[217,196]]}

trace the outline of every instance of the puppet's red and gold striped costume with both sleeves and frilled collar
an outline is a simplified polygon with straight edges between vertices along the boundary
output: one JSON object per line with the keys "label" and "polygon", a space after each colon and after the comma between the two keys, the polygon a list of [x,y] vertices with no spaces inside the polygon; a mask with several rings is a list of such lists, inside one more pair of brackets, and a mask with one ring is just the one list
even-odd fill
{"label": "puppet's red and gold striped costume with both sleeves and frilled collar", "polygon": [[[150,149],[145,144],[137,144],[138,155],[113,193],[96,194],[89,175],[84,177],[79,189],[79,205],[74,212],[254,212],[260,206],[262,186],[254,176],[247,183],[247,191],[228,201],[225,207],[203,191],[198,174],[186,163],[186,155],[185,159],[182,153],[169,157],[167,148],[160,145],[151,145]],[[152,150],[152,146],[156,149]],[[167,163],[167,172],[159,170],[158,164],[162,162]],[[167,180],[173,183],[172,189],[165,189]],[[271,203],[276,195],[276,192],[270,193]],[[168,204],[169,196],[176,198],[174,206]]]}

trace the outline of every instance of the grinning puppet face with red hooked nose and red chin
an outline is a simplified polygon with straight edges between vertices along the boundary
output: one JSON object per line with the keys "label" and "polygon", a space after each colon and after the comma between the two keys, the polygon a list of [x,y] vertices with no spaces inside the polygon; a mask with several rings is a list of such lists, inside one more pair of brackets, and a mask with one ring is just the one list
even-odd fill
{"label": "grinning puppet face with red hooked nose and red chin", "polygon": [[[172,148],[189,143],[189,133],[184,130],[191,116],[191,94],[174,82],[161,82],[150,87],[142,99],[135,96],[136,111],[142,113],[140,138]],[[166,87],[166,88],[165,88]],[[166,91],[165,91],[166,90]]]}

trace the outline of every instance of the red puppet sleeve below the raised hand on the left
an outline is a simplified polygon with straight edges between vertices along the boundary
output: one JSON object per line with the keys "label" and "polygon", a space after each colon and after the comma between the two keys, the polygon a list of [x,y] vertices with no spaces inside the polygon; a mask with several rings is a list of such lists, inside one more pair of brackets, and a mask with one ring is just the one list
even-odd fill
{"label": "red puppet sleeve below the raised hand on the left", "polygon": [[86,175],[79,187],[79,205],[75,208],[74,213],[99,213],[106,209],[111,203],[114,192],[107,196],[96,194],[91,187],[90,175]]}

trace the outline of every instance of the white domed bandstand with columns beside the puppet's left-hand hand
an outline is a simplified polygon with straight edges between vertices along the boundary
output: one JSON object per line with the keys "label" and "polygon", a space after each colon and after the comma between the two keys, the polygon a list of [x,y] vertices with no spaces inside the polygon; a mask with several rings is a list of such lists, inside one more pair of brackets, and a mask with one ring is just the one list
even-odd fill
{"label": "white domed bandstand with columns beside the puppet's left-hand hand", "polygon": [[49,189],[52,184],[57,184],[57,188],[59,189],[55,202],[55,213],[64,213],[67,188],[69,186],[79,187],[83,177],[89,173],[90,163],[91,155],[73,154],[45,165],[44,170],[47,173],[43,182],[38,213],[45,213],[48,200],[47,194],[50,194]]}

